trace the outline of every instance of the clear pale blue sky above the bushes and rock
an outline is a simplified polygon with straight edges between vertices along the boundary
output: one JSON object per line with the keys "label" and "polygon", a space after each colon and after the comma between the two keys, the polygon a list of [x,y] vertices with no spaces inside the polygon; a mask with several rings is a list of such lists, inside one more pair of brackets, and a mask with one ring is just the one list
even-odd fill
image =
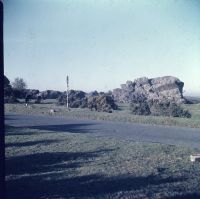
{"label": "clear pale blue sky above the bushes and rock", "polygon": [[200,96],[200,0],[5,0],[4,70],[61,91],[171,75]]}

